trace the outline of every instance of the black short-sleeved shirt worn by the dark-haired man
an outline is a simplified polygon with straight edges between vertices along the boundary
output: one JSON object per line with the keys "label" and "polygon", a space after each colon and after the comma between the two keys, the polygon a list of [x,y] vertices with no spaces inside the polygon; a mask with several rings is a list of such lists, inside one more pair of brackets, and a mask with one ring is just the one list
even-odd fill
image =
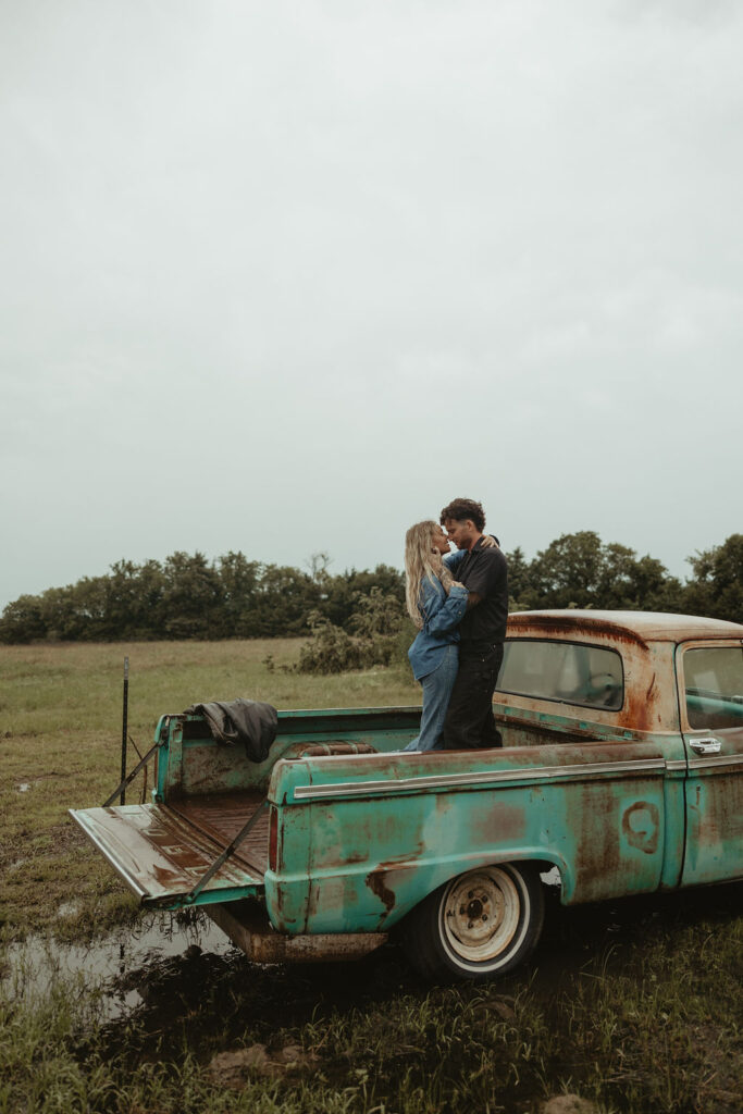
{"label": "black short-sleeved shirt worn by the dark-haired man", "polygon": [[459,625],[462,653],[485,652],[504,642],[508,622],[508,565],[497,546],[482,548],[482,538],[465,556],[454,578],[482,599],[467,609]]}

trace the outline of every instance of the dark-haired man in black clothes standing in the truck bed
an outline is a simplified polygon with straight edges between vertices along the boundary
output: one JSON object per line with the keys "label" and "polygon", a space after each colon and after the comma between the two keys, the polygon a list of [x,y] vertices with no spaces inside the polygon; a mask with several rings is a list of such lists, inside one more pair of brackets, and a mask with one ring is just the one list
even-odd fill
{"label": "dark-haired man in black clothes standing in the truck bed", "polygon": [[492,694],[504,659],[508,619],[508,569],[498,546],[485,548],[485,511],[473,499],[454,499],[441,511],[450,541],[466,549],[457,579],[468,589],[459,634],[459,672],[443,723],[446,750],[502,746]]}

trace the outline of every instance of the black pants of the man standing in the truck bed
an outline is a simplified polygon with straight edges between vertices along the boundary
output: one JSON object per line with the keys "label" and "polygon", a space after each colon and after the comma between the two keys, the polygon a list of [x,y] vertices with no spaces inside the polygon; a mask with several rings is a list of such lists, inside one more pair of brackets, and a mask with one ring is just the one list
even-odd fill
{"label": "black pants of the man standing in the truck bed", "polygon": [[504,745],[492,715],[492,693],[502,659],[502,644],[487,647],[483,653],[460,646],[459,672],[443,722],[444,750]]}

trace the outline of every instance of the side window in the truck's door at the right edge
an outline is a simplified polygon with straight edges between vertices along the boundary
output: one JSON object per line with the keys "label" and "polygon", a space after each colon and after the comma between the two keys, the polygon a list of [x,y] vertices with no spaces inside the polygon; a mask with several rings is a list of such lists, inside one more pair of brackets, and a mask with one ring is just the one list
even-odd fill
{"label": "side window in the truck's door at the right edge", "polygon": [[743,727],[743,647],[687,649],[684,684],[690,727]]}

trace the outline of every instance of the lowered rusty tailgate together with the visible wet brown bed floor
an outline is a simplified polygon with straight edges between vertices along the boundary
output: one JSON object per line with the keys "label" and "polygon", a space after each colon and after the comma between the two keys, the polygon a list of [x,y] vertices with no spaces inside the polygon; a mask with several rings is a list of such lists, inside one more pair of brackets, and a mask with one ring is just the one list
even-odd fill
{"label": "lowered rusty tailgate together with the visible wet brown bed floor", "polygon": [[[70,809],[70,815],[143,906],[175,909],[263,891],[268,815],[264,799],[224,794],[175,805]],[[194,887],[256,810],[250,838],[192,899]]]}

